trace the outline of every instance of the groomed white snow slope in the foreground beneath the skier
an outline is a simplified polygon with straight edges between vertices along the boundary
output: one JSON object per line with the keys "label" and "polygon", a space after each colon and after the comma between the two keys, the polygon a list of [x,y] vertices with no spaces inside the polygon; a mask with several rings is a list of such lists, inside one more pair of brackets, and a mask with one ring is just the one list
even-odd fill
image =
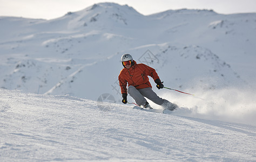
{"label": "groomed white snow slope in the foreground beneath the skier", "polygon": [[252,125],[186,117],[185,109],[159,114],[69,95],[0,93],[0,161],[256,160]]}

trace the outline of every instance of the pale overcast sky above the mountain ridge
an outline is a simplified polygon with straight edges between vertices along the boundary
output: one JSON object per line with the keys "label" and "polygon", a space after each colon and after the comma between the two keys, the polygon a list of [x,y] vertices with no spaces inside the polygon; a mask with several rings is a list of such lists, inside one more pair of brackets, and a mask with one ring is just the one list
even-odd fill
{"label": "pale overcast sky above the mountain ridge", "polygon": [[52,19],[102,2],[127,4],[143,15],[184,8],[212,9],[219,14],[256,12],[256,0],[0,0],[0,16]]}

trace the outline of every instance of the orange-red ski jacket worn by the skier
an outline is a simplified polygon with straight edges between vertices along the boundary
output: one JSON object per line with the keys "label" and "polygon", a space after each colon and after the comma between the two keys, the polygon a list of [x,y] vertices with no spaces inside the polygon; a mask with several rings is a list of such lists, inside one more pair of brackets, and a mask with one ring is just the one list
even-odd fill
{"label": "orange-red ski jacket worn by the skier", "polygon": [[127,93],[127,83],[128,86],[132,85],[136,89],[152,87],[147,76],[151,76],[154,80],[159,79],[156,70],[145,64],[137,64],[133,60],[131,68],[122,69],[118,76],[121,93]]}

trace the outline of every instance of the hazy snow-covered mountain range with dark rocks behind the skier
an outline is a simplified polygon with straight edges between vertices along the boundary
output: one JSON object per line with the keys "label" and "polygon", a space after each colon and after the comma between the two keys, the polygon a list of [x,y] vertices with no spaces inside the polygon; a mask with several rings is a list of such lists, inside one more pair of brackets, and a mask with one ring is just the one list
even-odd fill
{"label": "hazy snow-covered mountain range with dark rocks behind the skier", "polygon": [[0,85],[97,99],[103,92],[117,92],[112,87],[123,53],[137,62],[156,60],[150,65],[166,86],[253,85],[255,23],[255,14],[184,9],[144,16],[114,3],[50,21],[1,17]]}

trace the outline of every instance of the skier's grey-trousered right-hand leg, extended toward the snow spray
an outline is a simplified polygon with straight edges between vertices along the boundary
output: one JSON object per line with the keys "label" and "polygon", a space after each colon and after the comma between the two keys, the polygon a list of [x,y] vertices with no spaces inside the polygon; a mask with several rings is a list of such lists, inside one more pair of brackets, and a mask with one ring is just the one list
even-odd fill
{"label": "skier's grey-trousered right-hand leg, extended toward the snow spray", "polygon": [[140,93],[146,98],[152,100],[152,102],[161,105],[164,103],[164,99],[157,96],[157,94],[152,90],[151,87],[147,87],[145,89],[138,89]]}

